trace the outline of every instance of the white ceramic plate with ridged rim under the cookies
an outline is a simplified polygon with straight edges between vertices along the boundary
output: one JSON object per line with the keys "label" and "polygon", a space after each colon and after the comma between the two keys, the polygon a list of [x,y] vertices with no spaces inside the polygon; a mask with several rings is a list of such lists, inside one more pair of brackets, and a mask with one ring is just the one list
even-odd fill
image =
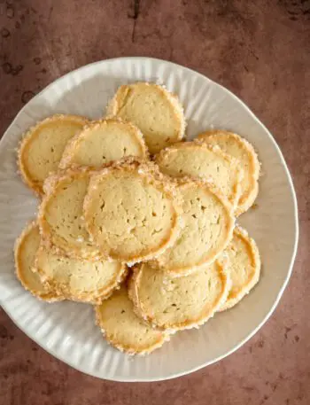
{"label": "white ceramic plate with ridged rim under the cookies", "polygon": [[[38,201],[21,182],[15,149],[21,134],[53,113],[98,118],[120,84],[165,84],[181,98],[188,136],[230,129],[245,136],[262,163],[255,210],[240,223],[256,239],[262,258],[260,283],[236,308],[216,314],[199,330],[177,333],[145,357],[128,357],[108,346],[92,308],[74,302],[46,304],[26,292],[14,275],[12,248]],[[151,58],[97,62],[53,82],[19,112],[0,144],[0,299],[22,331],[74,368],[98,378],[151,381],[174,378],[217,362],[241,347],[272,314],[291,276],[298,243],[298,211],[291,176],[274,138],[229,90],[185,67]]]}

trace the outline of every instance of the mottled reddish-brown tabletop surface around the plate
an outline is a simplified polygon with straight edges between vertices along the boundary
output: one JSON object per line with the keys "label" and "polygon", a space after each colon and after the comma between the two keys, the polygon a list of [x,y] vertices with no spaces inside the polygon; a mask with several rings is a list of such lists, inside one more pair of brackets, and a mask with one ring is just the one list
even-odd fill
{"label": "mottled reddish-brown tabletop surface around the plate", "polygon": [[308,405],[310,1],[0,0],[0,133],[59,75],[129,55],[169,59],[221,82],[274,134],[298,192],[291,283],[272,318],[235,354],[151,384],[85,376],[45,353],[2,311],[1,405]]}

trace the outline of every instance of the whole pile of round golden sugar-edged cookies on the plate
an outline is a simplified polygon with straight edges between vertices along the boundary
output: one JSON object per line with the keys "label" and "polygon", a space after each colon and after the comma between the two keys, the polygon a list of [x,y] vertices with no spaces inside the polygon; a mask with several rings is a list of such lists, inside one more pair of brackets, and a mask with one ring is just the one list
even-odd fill
{"label": "whole pile of round golden sugar-edged cookies on the plate", "polygon": [[27,131],[19,170],[40,197],[15,245],[37,298],[93,304],[114,347],[151,353],[232,308],[260,277],[236,217],[258,194],[252,145],[224,130],[182,141],[182,105],[146,82],[120,86],[100,121],[54,115]]}

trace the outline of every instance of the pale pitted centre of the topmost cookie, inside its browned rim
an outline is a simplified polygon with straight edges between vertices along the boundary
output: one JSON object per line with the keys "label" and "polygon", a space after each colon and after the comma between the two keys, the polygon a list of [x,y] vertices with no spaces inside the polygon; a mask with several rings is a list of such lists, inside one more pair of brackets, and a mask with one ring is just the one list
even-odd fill
{"label": "pale pitted centre of the topmost cookie, inside its browned rim", "polygon": [[174,208],[162,191],[138,175],[107,175],[91,192],[89,231],[115,253],[159,246],[171,233]]}

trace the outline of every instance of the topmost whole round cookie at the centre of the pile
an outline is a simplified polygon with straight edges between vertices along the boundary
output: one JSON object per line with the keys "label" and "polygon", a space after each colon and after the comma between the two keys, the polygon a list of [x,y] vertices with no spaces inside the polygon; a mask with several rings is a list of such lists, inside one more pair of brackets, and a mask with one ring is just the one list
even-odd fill
{"label": "topmost whole round cookie at the centre of the pile", "polygon": [[123,160],[91,176],[84,217],[90,236],[112,259],[151,259],[177,237],[176,188],[153,163]]}

